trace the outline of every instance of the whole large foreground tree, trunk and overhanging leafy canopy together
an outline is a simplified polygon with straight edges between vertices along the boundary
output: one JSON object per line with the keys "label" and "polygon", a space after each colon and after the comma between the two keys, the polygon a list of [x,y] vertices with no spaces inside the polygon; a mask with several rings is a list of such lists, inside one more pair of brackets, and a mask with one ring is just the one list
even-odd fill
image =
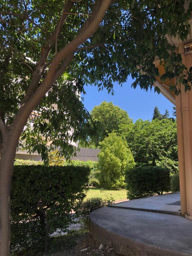
{"label": "whole large foreground tree, trunk and overhanging leafy canopy together", "polygon": [[[190,88],[191,69],[165,36],[184,40],[190,33],[192,4],[185,12],[184,3],[1,0],[0,255],[9,255],[10,186],[20,138],[44,159],[48,141],[68,156],[68,142],[86,140],[89,130],[76,91],[95,84],[111,92],[114,81],[121,84],[130,74],[134,88],[152,88],[157,57],[165,67],[162,79],[175,77]],[[177,83],[170,87],[176,94]]]}

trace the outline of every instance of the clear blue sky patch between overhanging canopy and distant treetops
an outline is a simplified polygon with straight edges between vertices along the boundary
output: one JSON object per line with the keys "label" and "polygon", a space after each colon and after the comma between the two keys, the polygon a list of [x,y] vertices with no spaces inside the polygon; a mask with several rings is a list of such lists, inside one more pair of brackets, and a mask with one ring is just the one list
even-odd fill
{"label": "clear blue sky patch between overhanging canopy and distant treetops", "polygon": [[136,89],[131,88],[132,81],[132,78],[128,77],[127,82],[122,87],[114,84],[114,95],[108,94],[106,89],[98,92],[98,87],[85,86],[86,94],[82,95],[85,108],[90,111],[94,106],[106,100],[107,102],[112,101],[113,104],[126,110],[134,122],[139,118],[151,120],[155,106],[159,108],[161,114],[164,114],[165,109],[168,109],[170,117],[172,117],[174,105],[168,99],[162,94],[154,93],[154,88],[148,92],[141,90],[139,86]]}

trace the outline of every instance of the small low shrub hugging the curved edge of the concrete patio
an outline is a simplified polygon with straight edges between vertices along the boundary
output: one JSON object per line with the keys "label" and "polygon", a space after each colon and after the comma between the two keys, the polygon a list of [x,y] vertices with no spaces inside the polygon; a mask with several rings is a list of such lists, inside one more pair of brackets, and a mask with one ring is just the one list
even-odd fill
{"label": "small low shrub hugging the curved edge of the concrete patio", "polygon": [[78,216],[83,227],[88,227],[89,215],[92,211],[113,204],[113,198],[103,200],[100,197],[93,197],[82,202],[78,209]]}

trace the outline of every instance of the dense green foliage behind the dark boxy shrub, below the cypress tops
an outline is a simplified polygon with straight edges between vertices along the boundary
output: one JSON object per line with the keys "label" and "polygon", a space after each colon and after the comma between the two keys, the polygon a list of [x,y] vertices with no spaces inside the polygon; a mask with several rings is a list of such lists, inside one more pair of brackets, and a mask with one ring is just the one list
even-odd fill
{"label": "dense green foliage behind the dark boxy shrub, below the cypress tops", "polygon": [[[123,134],[123,133],[122,133]],[[178,161],[177,124],[169,119],[139,119],[133,129],[125,132],[135,162],[156,165],[157,161]]]}

